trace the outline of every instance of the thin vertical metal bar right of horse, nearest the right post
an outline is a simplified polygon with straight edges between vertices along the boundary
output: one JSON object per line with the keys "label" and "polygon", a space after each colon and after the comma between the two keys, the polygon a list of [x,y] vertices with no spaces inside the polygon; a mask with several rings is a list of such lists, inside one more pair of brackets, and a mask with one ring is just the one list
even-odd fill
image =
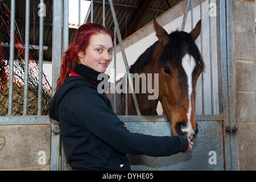
{"label": "thin vertical metal bar right of horse, nearest the right post", "polygon": [[[211,0],[209,0],[209,5]],[[214,100],[213,100],[213,77],[212,77],[212,16],[209,16],[209,38],[210,38],[210,98],[212,104],[212,114],[214,114]]]}

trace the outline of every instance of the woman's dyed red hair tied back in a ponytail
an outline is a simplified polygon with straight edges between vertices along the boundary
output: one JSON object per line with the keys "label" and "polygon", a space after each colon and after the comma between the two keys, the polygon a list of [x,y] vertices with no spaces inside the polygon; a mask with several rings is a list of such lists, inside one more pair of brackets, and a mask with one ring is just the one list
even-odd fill
{"label": "woman's dyed red hair tied back in a ponytail", "polygon": [[114,40],[114,34],[108,28],[102,26],[99,23],[85,23],[82,24],[76,32],[75,40],[70,44],[67,50],[64,52],[64,56],[61,59],[60,77],[57,80],[56,90],[62,85],[70,74],[69,66],[72,64],[72,69],[78,63],[77,53],[84,52],[89,46],[90,38],[95,34],[108,34],[112,41]]}

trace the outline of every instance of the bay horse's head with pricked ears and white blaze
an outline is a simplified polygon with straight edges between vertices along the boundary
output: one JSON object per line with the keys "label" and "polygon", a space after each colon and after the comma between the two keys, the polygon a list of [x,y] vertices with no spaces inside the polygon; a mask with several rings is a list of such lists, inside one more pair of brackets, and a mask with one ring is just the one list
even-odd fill
{"label": "bay horse's head with pricked ears and white blaze", "polygon": [[195,118],[196,82],[204,70],[204,62],[195,44],[201,31],[201,20],[188,34],[168,34],[154,20],[159,46],[155,49],[156,71],[159,73],[159,101],[175,135],[194,139],[198,133]]}

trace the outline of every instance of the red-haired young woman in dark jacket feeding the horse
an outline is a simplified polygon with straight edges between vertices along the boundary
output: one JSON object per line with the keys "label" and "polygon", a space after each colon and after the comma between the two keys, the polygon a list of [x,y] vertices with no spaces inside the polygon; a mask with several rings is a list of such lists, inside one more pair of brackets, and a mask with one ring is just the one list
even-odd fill
{"label": "red-haired young woman in dark jacket feeding the horse", "polygon": [[[62,59],[49,117],[60,122],[61,137],[73,170],[130,170],[126,154],[169,156],[190,151],[185,137],[130,133],[115,115],[97,80],[113,52],[113,33],[97,23],[79,27]],[[104,73],[105,74],[105,73]]]}

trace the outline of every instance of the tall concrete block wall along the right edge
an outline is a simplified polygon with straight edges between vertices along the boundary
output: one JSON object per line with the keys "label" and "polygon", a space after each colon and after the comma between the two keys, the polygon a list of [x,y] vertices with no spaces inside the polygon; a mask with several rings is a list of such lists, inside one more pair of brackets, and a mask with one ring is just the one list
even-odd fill
{"label": "tall concrete block wall along the right edge", "polygon": [[233,0],[238,169],[256,170],[255,1]]}

